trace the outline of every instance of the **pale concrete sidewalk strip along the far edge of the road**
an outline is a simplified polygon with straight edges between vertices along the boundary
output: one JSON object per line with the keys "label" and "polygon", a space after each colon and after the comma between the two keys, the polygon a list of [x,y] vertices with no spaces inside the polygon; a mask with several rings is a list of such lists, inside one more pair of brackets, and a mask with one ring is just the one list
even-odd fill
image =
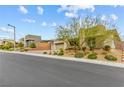
{"label": "pale concrete sidewalk strip along the far edge of the road", "polygon": [[84,59],[84,58],[63,57],[63,56],[35,54],[35,53],[27,53],[27,52],[15,52],[15,51],[2,51],[2,50],[0,50],[0,52],[1,53],[13,53],[13,54],[21,54],[21,55],[46,57],[46,58],[52,58],[52,59],[69,60],[69,61],[75,61],[75,62],[85,62],[85,63],[92,63],[92,64],[99,64],[99,65],[107,65],[107,66],[124,68],[123,63],[116,63],[116,62],[112,62],[112,61],[90,60],[90,59]]}

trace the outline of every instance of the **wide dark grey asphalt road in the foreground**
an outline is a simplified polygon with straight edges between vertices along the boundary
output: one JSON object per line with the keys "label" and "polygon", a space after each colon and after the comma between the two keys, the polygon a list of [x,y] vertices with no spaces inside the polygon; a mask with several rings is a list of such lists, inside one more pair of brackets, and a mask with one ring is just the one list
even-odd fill
{"label": "wide dark grey asphalt road in the foreground", "polygon": [[124,68],[0,53],[0,87],[124,87]]}

